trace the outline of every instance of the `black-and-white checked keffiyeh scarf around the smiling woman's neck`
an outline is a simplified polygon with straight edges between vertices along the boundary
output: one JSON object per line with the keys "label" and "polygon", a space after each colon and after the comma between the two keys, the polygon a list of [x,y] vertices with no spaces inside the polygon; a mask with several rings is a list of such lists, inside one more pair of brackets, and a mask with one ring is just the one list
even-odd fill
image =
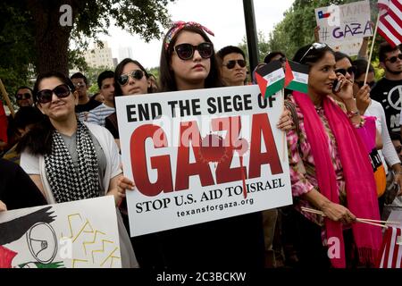
{"label": "black-and-white checked keffiyeh scarf around the smiling woman's neck", "polygon": [[77,126],[78,168],[57,130],[53,132],[52,154],[45,156],[46,176],[57,203],[98,196],[99,179],[96,150],[88,127]]}

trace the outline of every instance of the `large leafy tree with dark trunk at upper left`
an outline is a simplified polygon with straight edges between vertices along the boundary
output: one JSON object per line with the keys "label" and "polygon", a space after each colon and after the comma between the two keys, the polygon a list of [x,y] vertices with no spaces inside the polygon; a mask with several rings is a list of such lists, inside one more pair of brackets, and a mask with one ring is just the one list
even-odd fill
{"label": "large leafy tree with dark trunk at upper left", "polygon": [[[0,3],[0,78],[7,90],[44,71],[87,67],[80,52],[111,22],[146,41],[160,38],[175,0],[4,0]],[[68,5],[70,10],[61,9]],[[71,13],[70,13],[71,12]],[[71,16],[71,25],[62,19]],[[70,49],[70,42],[76,43]],[[30,68],[29,68],[30,67]],[[10,91],[9,91],[10,92]]]}

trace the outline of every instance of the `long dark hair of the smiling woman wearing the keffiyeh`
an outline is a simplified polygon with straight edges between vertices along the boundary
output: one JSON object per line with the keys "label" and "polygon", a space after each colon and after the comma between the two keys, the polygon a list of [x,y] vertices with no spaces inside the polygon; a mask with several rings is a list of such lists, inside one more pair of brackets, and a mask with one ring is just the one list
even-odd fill
{"label": "long dark hair of the smiling woman wearing the keffiyeh", "polygon": [[[49,71],[38,75],[37,81],[33,88],[33,98],[36,105],[38,103],[39,84],[42,80],[48,78],[57,78],[64,84],[68,85],[71,90],[75,90],[72,81],[59,71]],[[42,122],[36,124],[27,134],[25,134],[17,145],[16,151],[21,153],[27,151],[34,156],[37,155],[50,155],[52,153],[53,140],[52,135],[54,126],[49,120],[49,117],[44,116]]]}

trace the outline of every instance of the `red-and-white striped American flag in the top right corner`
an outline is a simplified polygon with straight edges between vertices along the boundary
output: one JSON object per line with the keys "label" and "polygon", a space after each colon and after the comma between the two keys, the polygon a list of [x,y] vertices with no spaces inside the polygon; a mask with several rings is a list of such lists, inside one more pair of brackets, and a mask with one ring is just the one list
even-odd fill
{"label": "red-and-white striped American flag in the top right corner", "polygon": [[402,3],[400,0],[379,0],[378,31],[391,46],[402,43]]}

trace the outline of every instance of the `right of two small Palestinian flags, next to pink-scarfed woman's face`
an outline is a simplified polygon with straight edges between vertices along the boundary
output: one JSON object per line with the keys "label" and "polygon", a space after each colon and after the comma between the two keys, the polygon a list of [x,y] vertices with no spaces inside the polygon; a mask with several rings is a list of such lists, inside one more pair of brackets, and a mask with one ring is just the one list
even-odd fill
{"label": "right of two small Palestinian flags, next to pink-scarfed woman's face", "polygon": [[308,66],[306,64],[286,61],[285,70],[285,88],[307,93]]}

